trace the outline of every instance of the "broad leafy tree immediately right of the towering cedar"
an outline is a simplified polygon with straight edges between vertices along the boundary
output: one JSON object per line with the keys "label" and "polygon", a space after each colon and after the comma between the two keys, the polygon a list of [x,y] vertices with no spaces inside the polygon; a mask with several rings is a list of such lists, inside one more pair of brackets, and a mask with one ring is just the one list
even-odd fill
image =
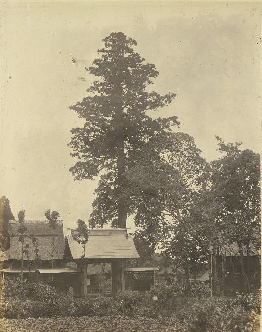
{"label": "broad leafy tree immediately right of the towering cedar", "polygon": [[[194,139],[181,132],[156,137],[146,149],[146,158],[128,172],[128,190],[133,195],[137,211],[141,206],[142,209],[147,209],[144,215],[148,226],[143,228],[152,229],[148,224],[152,219],[149,217],[149,222],[146,216],[148,213],[150,216],[149,211],[154,206],[157,211],[155,220],[158,215],[157,224],[162,225],[162,232],[159,234],[165,234],[162,245],[170,248],[171,242],[173,246],[179,244],[186,273],[186,289],[189,291],[189,256],[186,248],[192,235],[189,235],[187,216],[198,192],[206,186],[208,164],[201,157]],[[137,218],[143,220],[139,215]],[[158,226],[158,229],[161,227]],[[158,237],[160,241],[160,236]],[[176,240],[177,237],[179,241]]]}

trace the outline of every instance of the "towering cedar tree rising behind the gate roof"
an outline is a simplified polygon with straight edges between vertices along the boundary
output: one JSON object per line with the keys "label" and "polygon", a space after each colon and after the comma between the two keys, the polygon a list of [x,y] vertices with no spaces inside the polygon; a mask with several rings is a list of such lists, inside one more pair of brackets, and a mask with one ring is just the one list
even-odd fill
{"label": "towering cedar tree rising behind the gate roof", "polygon": [[125,228],[130,212],[123,196],[125,171],[136,163],[145,142],[179,125],[175,116],[164,119],[163,125],[147,112],[170,104],[176,95],[146,91],[159,73],[154,64],[145,64],[134,52],[135,40],[113,32],[103,42],[105,47],[98,50],[101,57],[86,68],[98,80],[87,90],[87,97],[69,107],[86,120],[83,128],[71,130],[71,156],[79,161],[70,172],[82,180],[93,179],[103,170],[90,223],[103,226],[111,222]]}

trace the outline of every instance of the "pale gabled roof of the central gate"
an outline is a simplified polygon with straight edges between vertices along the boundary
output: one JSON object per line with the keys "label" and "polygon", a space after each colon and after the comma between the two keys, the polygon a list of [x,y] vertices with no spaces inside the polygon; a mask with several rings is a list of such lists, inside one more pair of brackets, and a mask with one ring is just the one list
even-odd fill
{"label": "pale gabled roof of the central gate", "polygon": [[[88,259],[139,258],[132,237],[126,229],[89,229],[89,240],[85,247]],[[80,259],[83,247],[73,239],[76,230],[71,230],[67,241],[73,259]]]}

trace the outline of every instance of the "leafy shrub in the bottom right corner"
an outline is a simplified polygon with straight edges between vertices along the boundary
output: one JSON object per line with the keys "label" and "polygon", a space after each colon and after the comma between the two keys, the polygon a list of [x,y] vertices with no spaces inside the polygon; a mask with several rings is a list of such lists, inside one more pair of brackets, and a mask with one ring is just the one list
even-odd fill
{"label": "leafy shrub in the bottom right corner", "polygon": [[227,314],[220,326],[225,332],[256,332],[259,330],[259,319],[254,311],[237,308]]}

